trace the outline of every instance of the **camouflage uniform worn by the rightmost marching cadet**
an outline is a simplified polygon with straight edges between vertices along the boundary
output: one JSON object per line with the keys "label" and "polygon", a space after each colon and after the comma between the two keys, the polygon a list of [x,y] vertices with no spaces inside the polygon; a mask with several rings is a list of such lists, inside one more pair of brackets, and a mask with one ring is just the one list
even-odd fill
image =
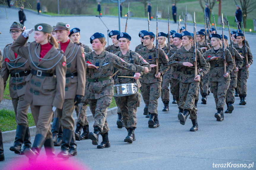
{"label": "camouflage uniform worn by the rightmost marching cadet", "polygon": [[[244,56],[243,66],[239,68],[237,74],[237,92],[239,95],[247,95],[247,79],[249,77],[249,69],[246,68],[245,48],[244,46],[242,48],[239,48],[238,44],[236,44],[234,48],[236,48],[241,56]],[[248,63],[251,65],[253,60],[252,53],[249,47],[247,47],[247,52]]]}

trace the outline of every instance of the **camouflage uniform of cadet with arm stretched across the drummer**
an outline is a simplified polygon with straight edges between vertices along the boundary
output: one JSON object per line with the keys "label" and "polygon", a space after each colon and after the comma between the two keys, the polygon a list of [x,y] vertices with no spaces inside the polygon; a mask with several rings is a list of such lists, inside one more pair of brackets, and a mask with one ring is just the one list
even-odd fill
{"label": "camouflage uniform of cadet with arm stretched across the drummer", "polygon": [[[106,121],[107,109],[114,95],[114,80],[110,78],[113,75],[114,67],[118,69],[128,69],[133,72],[144,72],[144,67],[128,64],[118,56],[103,50],[100,55],[94,51],[85,54],[85,61],[98,65],[98,69],[87,68],[88,81],[86,82],[86,96],[89,100],[89,106],[94,116],[93,127],[99,127],[101,133],[109,131]],[[96,64],[97,63],[97,64]]]}

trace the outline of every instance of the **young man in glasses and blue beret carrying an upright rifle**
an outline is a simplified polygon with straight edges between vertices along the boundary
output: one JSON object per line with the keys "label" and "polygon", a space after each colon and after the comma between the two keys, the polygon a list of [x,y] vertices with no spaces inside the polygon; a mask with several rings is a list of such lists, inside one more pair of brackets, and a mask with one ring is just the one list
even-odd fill
{"label": "young man in glasses and blue beret carrying an upright rifle", "polygon": [[[138,54],[140,54],[143,59],[145,59],[149,64],[150,67],[154,67],[151,69],[149,74],[143,75],[140,82],[141,82],[141,94],[143,99],[148,107],[148,114],[150,116],[148,121],[149,128],[156,128],[159,127],[158,121],[158,98],[161,94],[161,82],[162,76],[168,69],[168,57],[165,52],[159,48],[158,49],[158,75],[156,75],[156,50],[153,41],[155,40],[155,34],[152,32],[144,31],[141,34],[141,37],[144,40],[146,47],[140,49]],[[161,69],[161,65],[163,64],[163,68]]]}

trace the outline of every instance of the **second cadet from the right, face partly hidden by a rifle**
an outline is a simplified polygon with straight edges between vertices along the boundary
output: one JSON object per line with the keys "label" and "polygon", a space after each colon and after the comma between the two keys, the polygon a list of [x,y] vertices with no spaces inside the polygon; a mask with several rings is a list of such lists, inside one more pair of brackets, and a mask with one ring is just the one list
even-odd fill
{"label": "second cadet from the right, face partly hidden by a rifle", "polygon": [[[220,36],[222,38],[222,35]],[[223,41],[223,38],[221,39],[221,41]],[[224,46],[226,49],[228,49],[231,52],[231,47],[228,46],[228,37],[226,35],[224,35]],[[233,50],[235,54],[236,69],[234,69],[233,72],[230,72],[230,85],[228,87],[227,94],[226,94],[226,103],[227,103],[228,109],[225,111],[225,113],[232,113],[232,111],[234,110],[233,103],[235,102],[237,72],[238,72],[238,68],[241,68],[243,66],[243,58],[236,51],[235,48],[233,48]]]}

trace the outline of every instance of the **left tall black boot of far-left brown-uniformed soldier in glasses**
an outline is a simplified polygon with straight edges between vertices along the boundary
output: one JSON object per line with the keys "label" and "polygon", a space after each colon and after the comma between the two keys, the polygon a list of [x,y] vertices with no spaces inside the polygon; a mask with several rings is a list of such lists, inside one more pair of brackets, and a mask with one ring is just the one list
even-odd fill
{"label": "left tall black boot of far-left brown-uniformed soldier in glasses", "polygon": [[10,147],[10,150],[14,151],[14,153],[16,153],[16,154],[21,153],[21,145],[24,142],[24,137],[25,137],[25,134],[26,134],[26,130],[27,130],[26,126],[17,125],[14,145]]}

